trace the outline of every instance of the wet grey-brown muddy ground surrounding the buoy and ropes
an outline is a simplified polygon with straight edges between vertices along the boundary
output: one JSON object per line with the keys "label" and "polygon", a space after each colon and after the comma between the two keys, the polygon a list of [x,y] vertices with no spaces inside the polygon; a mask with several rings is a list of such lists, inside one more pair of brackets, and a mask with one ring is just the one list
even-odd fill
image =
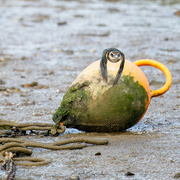
{"label": "wet grey-brown muddy ground surrounding the buoy and ropes", "polygon": [[[52,123],[75,77],[116,47],[126,59],[156,59],[171,71],[170,90],[153,98],[144,118],[107,146],[82,150],[34,149],[52,161],[17,167],[17,179],[174,179],[180,173],[180,2],[178,0],[0,0],[0,118]],[[142,68],[152,89],[164,75]],[[34,87],[24,85],[37,82]],[[68,130],[68,132],[76,132]],[[26,139],[55,142],[66,137]],[[101,152],[100,156],[95,156]],[[135,175],[128,177],[131,171]],[[0,170],[0,178],[4,172]]]}

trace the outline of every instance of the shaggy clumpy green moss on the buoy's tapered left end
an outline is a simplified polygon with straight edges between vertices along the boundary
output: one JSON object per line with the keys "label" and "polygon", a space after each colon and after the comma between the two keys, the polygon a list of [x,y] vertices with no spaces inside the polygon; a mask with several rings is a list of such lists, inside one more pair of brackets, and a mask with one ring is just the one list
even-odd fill
{"label": "shaggy clumpy green moss on the buoy's tapered left end", "polygon": [[90,92],[85,90],[90,84],[89,81],[82,84],[75,84],[64,95],[60,107],[53,115],[54,122],[63,122],[66,127],[76,127],[76,124],[83,123],[87,114],[87,103],[92,99]]}

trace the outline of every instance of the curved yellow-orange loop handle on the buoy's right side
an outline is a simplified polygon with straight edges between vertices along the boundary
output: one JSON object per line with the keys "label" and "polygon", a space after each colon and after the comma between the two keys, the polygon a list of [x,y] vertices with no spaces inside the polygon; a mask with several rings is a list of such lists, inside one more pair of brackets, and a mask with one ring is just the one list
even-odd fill
{"label": "curved yellow-orange loop handle on the buoy's right side", "polygon": [[151,97],[160,96],[169,90],[169,88],[171,87],[171,83],[172,83],[172,76],[171,76],[169,69],[165,65],[163,65],[162,63],[160,63],[158,61],[152,60],[152,59],[140,59],[140,60],[135,61],[134,63],[137,66],[156,67],[159,70],[161,70],[164,73],[164,75],[166,76],[166,83],[164,84],[163,87],[161,87],[160,89],[157,89],[157,90],[150,90]]}

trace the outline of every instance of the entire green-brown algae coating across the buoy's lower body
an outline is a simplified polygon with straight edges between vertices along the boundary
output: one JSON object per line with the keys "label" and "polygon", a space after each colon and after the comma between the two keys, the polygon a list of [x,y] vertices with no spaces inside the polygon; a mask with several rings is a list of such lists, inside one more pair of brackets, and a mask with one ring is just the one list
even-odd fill
{"label": "entire green-brown algae coating across the buoy's lower body", "polygon": [[[116,132],[132,127],[146,112],[147,92],[132,76],[123,75],[116,86],[101,86],[93,80],[76,80],[53,115],[55,122],[83,131]],[[96,86],[99,90],[94,95],[91,92]]]}

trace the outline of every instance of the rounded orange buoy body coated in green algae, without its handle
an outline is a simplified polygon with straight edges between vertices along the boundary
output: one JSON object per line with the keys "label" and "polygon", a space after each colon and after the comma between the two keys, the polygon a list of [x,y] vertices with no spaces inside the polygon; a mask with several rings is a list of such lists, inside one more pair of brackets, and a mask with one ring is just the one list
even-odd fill
{"label": "rounded orange buoy body coated in green algae, without its handle", "polygon": [[100,61],[84,69],[64,95],[53,120],[96,132],[123,131],[135,125],[150,103],[149,83],[142,70],[126,60],[117,85],[112,86],[119,65],[108,61],[108,82],[102,79]]}

